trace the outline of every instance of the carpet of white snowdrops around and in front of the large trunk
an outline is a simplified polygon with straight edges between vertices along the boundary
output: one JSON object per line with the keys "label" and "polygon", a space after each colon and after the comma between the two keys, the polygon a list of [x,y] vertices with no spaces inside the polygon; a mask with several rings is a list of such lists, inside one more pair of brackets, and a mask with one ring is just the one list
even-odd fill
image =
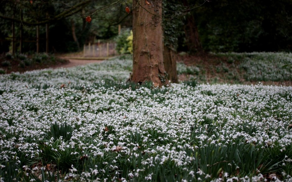
{"label": "carpet of white snowdrops around and in front of the large trunk", "polygon": [[292,87],[151,89],[130,71],[0,75],[0,181],[292,181]]}

